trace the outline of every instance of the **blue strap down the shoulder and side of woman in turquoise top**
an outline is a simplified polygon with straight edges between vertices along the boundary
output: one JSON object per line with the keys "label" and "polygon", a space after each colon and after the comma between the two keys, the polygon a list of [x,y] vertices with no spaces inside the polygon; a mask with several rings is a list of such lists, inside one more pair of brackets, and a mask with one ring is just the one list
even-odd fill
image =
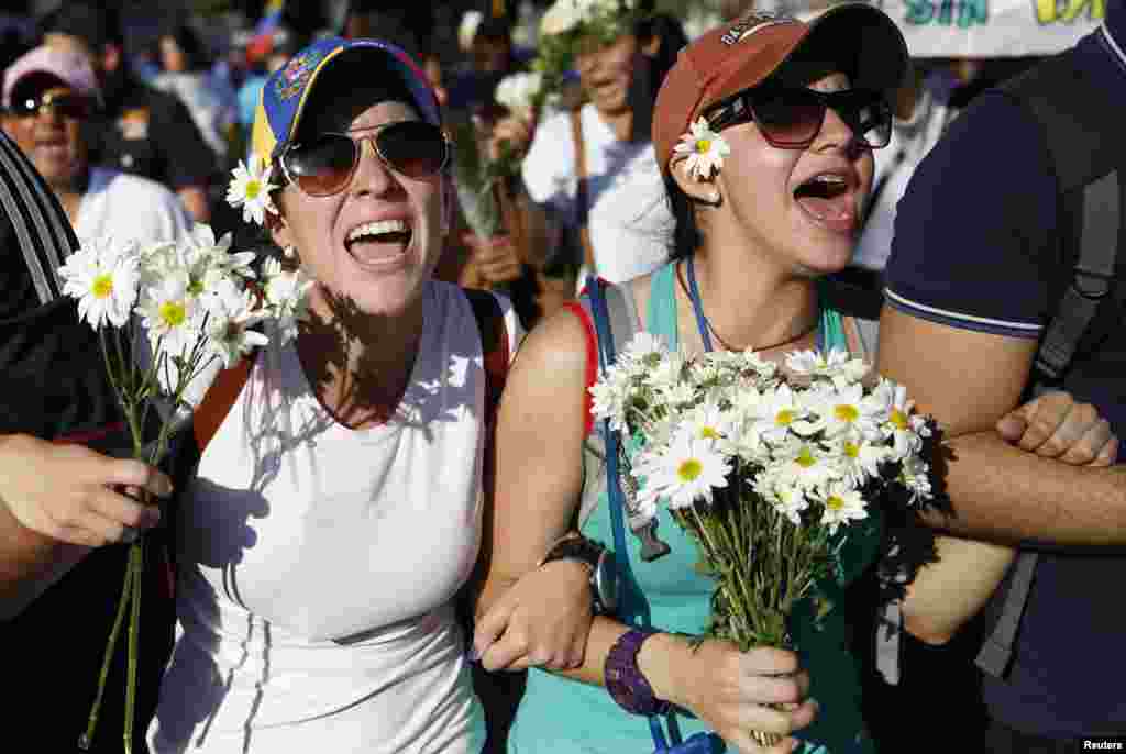
{"label": "blue strap down the shoulder and side of woman in turquoise top", "polygon": [[[610,313],[606,304],[605,280],[596,278],[587,286],[590,298],[590,315],[595,321],[595,332],[598,334],[598,362],[601,371],[614,363],[617,354],[614,350],[614,335],[610,331]],[[622,438],[610,429],[609,420],[602,421],[602,433],[606,438],[606,491],[610,505],[610,527],[614,531],[614,560],[617,564],[619,584],[622,585],[618,618],[624,623],[641,628],[651,627],[649,602],[637,586],[633,567],[629,564],[629,547],[626,542],[625,495],[622,492],[622,472],[619,452]]]}

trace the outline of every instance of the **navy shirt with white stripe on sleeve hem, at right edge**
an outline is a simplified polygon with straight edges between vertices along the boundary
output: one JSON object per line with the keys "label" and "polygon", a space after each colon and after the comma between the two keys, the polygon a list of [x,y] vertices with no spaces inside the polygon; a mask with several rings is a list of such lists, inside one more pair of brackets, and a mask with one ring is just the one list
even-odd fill
{"label": "navy shirt with white stripe on sleeve hem, at right edge", "polygon": [[[1099,29],[1076,55],[1094,80],[1121,91],[1126,106],[1126,57],[1114,37]],[[1003,96],[982,95],[922,161],[899,204],[888,304],[954,327],[1039,338],[1061,275],[1069,275],[1058,268],[1057,210],[1039,126]],[[1065,384],[1098,406],[1119,437],[1126,437],[1124,366],[1126,329],[1118,327],[1076,359]],[[995,719],[1040,736],[1126,733],[1126,611],[1111,586],[1124,580],[1126,557],[1042,557],[1011,674],[985,679]]]}

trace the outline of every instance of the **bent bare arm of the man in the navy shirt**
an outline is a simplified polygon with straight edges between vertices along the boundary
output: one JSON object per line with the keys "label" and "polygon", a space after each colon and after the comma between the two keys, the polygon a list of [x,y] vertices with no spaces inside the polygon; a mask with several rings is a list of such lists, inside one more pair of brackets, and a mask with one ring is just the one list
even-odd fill
{"label": "bent bare arm of the man in the navy shirt", "polygon": [[1020,401],[1037,343],[927,322],[885,306],[879,372],[945,428],[951,533],[1000,542],[1126,544],[1126,469],[1075,467],[993,430]]}

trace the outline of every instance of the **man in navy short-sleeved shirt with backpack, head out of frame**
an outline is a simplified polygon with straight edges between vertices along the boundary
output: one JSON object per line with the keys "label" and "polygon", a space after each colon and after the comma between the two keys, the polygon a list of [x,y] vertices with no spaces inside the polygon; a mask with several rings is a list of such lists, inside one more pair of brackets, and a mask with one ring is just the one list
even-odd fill
{"label": "man in navy short-sleeved shirt with backpack, head out of frame", "polygon": [[[879,369],[935,414],[956,450],[956,515],[940,523],[1021,550],[993,605],[1012,632],[993,634],[991,646],[1011,654],[978,658],[990,752],[1082,751],[1094,748],[1083,737],[1126,735],[1126,613],[1111,586],[1126,576],[1124,458],[1075,469],[980,434],[1045,382],[1126,429],[1126,6],[1105,7],[1100,28],[954,122],[899,204],[887,264]],[[1102,269],[1076,261],[1089,249]],[[1107,266],[1115,249],[1117,266]],[[1076,325],[1074,313],[1099,300]],[[1016,591],[1024,600],[1010,603]]]}

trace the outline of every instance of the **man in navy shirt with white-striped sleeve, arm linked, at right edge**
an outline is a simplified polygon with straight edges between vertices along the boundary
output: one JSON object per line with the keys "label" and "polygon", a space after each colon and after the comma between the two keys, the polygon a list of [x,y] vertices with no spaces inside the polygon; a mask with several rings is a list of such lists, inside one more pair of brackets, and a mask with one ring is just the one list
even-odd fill
{"label": "man in navy shirt with white-striped sleeve, arm linked, at right edge", "polygon": [[[1126,108],[1126,8],[1076,46],[1093,81]],[[1126,734],[1126,467],[1069,467],[985,431],[1026,388],[1061,290],[1056,185],[1040,126],[982,95],[915,172],[899,205],[881,322],[879,368],[948,428],[953,533],[1047,549],[1015,659],[986,677],[991,752],[1072,751]],[[1126,253],[1119,252],[1119,255]],[[1066,282],[1066,279],[1063,279]],[[1126,327],[1080,353],[1065,389],[1126,437]],[[1116,549],[1117,547],[1117,549]],[[1117,554],[1115,554],[1117,553]]]}

